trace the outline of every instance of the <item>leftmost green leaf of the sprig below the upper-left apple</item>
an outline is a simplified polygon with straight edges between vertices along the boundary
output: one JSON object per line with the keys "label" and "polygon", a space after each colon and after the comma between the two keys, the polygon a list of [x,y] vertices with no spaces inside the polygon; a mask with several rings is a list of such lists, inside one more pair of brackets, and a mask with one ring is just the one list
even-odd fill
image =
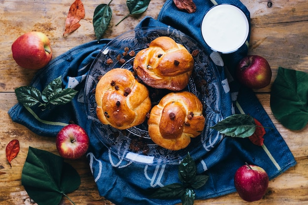
{"label": "leftmost green leaf of the sprig below the upper-left apple", "polygon": [[31,107],[40,103],[41,92],[31,86],[23,86],[15,89],[15,94],[18,102],[24,106]]}

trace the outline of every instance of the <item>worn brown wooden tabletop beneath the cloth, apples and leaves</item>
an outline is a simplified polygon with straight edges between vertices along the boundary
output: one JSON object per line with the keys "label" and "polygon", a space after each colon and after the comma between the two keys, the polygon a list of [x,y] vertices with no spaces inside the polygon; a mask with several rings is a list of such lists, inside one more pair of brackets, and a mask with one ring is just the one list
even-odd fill
{"label": "worn brown wooden tabletop beneath the cloth, apples and leaves", "polygon": [[[12,58],[11,45],[21,34],[36,30],[45,33],[52,45],[53,58],[67,50],[95,40],[92,16],[99,3],[109,0],[83,0],[86,10],[81,27],[66,37],[62,36],[65,18],[73,0],[0,0],[0,204],[30,204],[29,196],[21,185],[21,172],[29,146],[57,154],[54,138],[37,136],[23,125],[11,120],[7,111],[17,103],[14,89],[29,85],[36,71],[19,67]],[[130,16],[115,26],[128,13],[125,0],[113,0],[111,24],[105,38],[114,38],[133,29],[146,15],[157,17],[165,0],[151,0],[146,12]],[[242,0],[251,15],[249,54],[265,57],[273,70],[272,83],[278,66],[308,72],[308,1],[306,0]],[[284,128],[270,108],[271,86],[255,90],[266,112],[272,118],[285,142],[295,156],[297,165],[269,183],[267,194],[252,205],[308,205],[308,126],[301,131]],[[12,161],[5,157],[5,147],[13,139],[20,141],[21,150]],[[80,174],[78,190],[68,194],[77,205],[111,205],[99,196],[86,157],[68,161]],[[62,199],[61,205],[70,205]],[[237,193],[208,200],[196,200],[195,205],[245,205]]]}

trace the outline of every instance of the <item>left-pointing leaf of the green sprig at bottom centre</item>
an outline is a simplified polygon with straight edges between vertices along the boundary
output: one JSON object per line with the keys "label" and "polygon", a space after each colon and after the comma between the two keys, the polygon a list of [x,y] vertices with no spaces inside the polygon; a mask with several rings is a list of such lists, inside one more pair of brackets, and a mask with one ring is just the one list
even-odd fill
{"label": "left-pointing leaf of the green sprig at bottom centre", "polygon": [[150,198],[156,199],[175,199],[184,195],[184,186],[180,183],[173,183],[159,188],[155,191]]}

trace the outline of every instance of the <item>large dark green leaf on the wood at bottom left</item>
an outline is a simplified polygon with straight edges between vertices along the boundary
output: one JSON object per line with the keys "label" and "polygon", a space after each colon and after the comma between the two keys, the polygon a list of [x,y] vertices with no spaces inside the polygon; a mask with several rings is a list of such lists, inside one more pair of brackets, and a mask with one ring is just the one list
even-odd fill
{"label": "large dark green leaf on the wood at bottom left", "polygon": [[62,157],[29,147],[22,185],[37,204],[58,205],[62,196],[79,187],[80,176]]}

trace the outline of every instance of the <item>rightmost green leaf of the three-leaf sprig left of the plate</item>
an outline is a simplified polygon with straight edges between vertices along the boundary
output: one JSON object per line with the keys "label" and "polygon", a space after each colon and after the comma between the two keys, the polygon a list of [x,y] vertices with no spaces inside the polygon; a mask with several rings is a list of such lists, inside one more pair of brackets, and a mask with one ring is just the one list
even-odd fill
{"label": "rightmost green leaf of the three-leaf sprig left of the plate", "polygon": [[58,90],[57,92],[51,93],[49,96],[49,103],[53,105],[64,105],[70,102],[77,94],[77,92],[77,90],[72,88],[66,88],[60,91]]}

